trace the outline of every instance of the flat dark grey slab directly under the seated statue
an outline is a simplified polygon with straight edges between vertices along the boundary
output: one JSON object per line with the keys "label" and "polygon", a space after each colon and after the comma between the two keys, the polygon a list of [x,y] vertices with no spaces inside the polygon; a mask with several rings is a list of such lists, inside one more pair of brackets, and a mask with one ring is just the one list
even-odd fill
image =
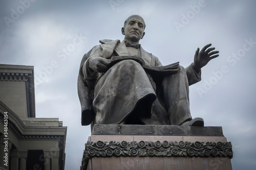
{"label": "flat dark grey slab directly under the seated statue", "polygon": [[222,127],[175,125],[94,125],[92,135],[223,136]]}

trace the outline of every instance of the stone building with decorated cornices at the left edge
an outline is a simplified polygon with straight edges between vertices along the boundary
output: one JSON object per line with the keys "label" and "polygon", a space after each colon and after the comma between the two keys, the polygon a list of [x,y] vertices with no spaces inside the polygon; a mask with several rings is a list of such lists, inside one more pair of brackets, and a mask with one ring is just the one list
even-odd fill
{"label": "stone building with decorated cornices at the left edge", "polygon": [[33,66],[0,64],[0,169],[64,169],[67,127],[35,117]]}

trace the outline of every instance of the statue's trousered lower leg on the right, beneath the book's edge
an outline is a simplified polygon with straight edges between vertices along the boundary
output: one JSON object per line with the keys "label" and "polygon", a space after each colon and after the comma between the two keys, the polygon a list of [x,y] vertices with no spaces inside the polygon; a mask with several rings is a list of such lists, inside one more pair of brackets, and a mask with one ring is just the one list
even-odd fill
{"label": "statue's trousered lower leg on the right, beneath the book's edge", "polygon": [[171,125],[181,125],[192,119],[189,110],[189,87],[184,67],[162,81],[163,97]]}

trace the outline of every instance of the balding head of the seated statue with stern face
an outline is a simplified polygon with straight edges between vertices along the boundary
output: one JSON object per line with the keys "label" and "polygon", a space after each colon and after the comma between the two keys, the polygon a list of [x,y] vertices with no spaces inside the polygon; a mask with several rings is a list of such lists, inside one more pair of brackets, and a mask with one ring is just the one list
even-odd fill
{"label": "balding head of the seated statue with stern face", "polygon": [[123,24],[121,29],[124,35],[124,40],[131,43],[139,43],[139,40],[145,35],[145,22],[144,19],[139,15],[129,16]]}

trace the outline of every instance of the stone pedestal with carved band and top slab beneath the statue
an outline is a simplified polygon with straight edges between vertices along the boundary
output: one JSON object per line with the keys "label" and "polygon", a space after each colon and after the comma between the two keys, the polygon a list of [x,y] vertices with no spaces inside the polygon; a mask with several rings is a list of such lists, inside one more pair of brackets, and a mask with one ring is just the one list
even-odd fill
{"label": "stone pedestal with carved band and top slab beneath the statue", "polygon": [[221,127],[95,125],[81,169],[232,169]]}

